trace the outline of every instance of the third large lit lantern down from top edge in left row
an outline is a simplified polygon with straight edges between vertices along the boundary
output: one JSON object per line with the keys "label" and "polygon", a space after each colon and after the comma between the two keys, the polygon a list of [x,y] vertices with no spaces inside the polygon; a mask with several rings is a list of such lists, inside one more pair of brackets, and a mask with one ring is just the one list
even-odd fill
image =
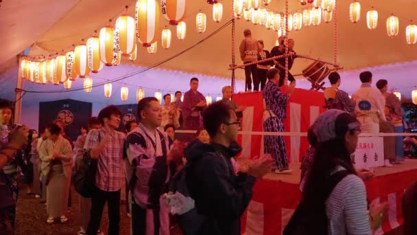
{"label": "third large lit lantern down from top edge in left row", "polygon": [[133,17],[126,14],[119,16],[116,20],[115,33],[119,34],[119,48],[121,54],[123,56],[128,56],[133,52],[136,45],[136,23]]}

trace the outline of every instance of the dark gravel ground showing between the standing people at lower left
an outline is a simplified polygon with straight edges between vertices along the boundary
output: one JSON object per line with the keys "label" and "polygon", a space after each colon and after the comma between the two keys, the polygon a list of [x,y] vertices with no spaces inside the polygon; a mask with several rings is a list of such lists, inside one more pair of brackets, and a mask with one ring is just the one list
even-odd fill
{"label": "dark gravel ground showing between the standing people at lower left", "polygon": [[[16,212],[16,235],[75,235],[80,230],[78,194],[71,188],[72,207],[67,214],[68,223],[47,225],[46,205],[40,204],[41,199],[35,199],[33,195],[26,195],[25,187],[22,186],[21,194],[17,203]],[[130,234],[130,218],[126,215],[126,204],[120,205],[120,235]],[[58,221],[59,222],[59,221]],[[108,214],[107,206],[104,207],[100,230],[107,234]],[[172,235],[180,235],[178,227],[171,230]]]}

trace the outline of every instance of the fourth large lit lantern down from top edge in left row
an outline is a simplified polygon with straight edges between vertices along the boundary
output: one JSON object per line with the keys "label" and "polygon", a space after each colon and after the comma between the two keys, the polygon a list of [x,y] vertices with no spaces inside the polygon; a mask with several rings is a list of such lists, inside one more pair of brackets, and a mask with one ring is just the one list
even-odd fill
{"label": "fourth large lit lantern down from top edge in left row", "polygon": [[115,30],[112,27],[103,27],[99,34],[100,60],[106,66],[113,65],[113,57],[117,56],[115,45]]}

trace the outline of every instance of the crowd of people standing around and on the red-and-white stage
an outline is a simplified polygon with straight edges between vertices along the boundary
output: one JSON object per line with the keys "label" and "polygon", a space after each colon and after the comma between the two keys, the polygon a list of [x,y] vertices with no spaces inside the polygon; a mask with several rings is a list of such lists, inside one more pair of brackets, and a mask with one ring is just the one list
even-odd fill
{"label": "crowd of people standing around and on the red-and-white stage", "polygon": [[[250,30],[244,34],[241,56],[245,63],[284,54],[281,43],[285,41],[291,52],[294,47],[294,41],[281,38],[270,54],[262,41],[250,36]],[[259,85],[263,90],[264,131],[283,132],[296,82],[283,74],[285,60],[271,61],[245,67],[246,78],[252,75],[254,90]],[[289,58],[289,68],[293,61]],[[362,85],[349,98],[339,89],[339,74],[329,75],[331,87],[324,91],[329,110],[309,128],[311,148],[302,162],[302,200],[284,234],[372,234],[385,218],[384,203],[368,205],[366,200],[364,180],[372,178],[372,172],[357,172],[350,155],[360,133],[403,131],[403,113],[398,98],[387,92],[386,80],[379,80],[376,89],[369,71],[359,77]],[[252,82],[246,81],[250,90]],[[239,164],[235,159],[241,152],[237,134],[245,107],[231,100],[230,86],[223,87],[222,100],[207,105],[198,82],[191,78],[183,101],[180,91],[175,93],[175,102],[169,94],[163,96],[163,105],[153,97],[140,100],[137,120],[127,122],[124,132],[118,131],[121,111],[113,105],[105,107],[97,117],[88,117],[75,144],[60,120],[48,124],[40,137],[26,126],[9,126],[12,106],[1,102],[0,233],[13,234],[20,170],[29,187],[27,193],[45,198],[47,224],[73,219],[67,218],[71,176],[90,157],[96,166],[94,190],[91,197],[78,195],[79,235],[104,234],[99,227],[106,204],[107,234],[119,234],[123,200],[133,235],[170,234],[173,223],[184,234],[240,234],[240,218],[252,198],[255,181],[271,171],[291,173],[285,140],[280,135],[265,135],[265,154]],[[178,128],[196,132],[178,135]],[[385,166],[403,160],[402,139],[395,138],[384,137],[389,144],[384,148]],[[396,148],[392,148],[394,144]],[[416,199],[413,187],[407,190],[405,205]],[[409,218],[405,221],[405,226],[410,224]]]}

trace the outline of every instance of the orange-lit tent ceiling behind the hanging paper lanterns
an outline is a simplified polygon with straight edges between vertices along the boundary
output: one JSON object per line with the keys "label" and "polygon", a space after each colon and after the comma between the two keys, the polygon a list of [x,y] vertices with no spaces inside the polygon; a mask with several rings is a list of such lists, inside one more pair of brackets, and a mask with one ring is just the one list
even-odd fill
{"label": "orange-lit tent ceiling behind the hanging paper lanterns", "polygon": [[[136,65],[149,66],[169,56],[194,45],[211,32],[217,30],[230,19],[231,0],[225,0],[224,19],[222,23],[215,23],[211,16],[211,5],[204,0],[189,0],[187,10],[187,37],[178,41],[174,36],[171,48],[163,50],[158,48],[156,54],[147,54],[143,47],[139,47]],[[346,70],[384,65],[388,63],[403,63],[416,60],[417,45],[409,46],[405,42],[405,27],[409,19],[415,16],[415,1],[360,1],[362,5],[361,20],[350,23],[348,19],[348,5],[350,1],[337,1],[337,38],[338,60]],[[62,49],[71,49],[80,39],[88,38],[94,30],[108,24],[108,19],[120,14],[124,5],[130,5],[128,13],[133,16],[135,1],[132,0],[27,0],[4,1],[0,8],[1,33],[0,64],[5,63],[32,44],[31,55],[51,54]],[[370,6],[379,10],[379,25],[371,31],[366,27],[366,11]],[[270,8],[284,11],[284,1],[272,1]],[[290,10],[298,10],[301,6],[298,1],[291,0]],[[198,34],[195,30],[195,14],[202,10],[207,14],[207,31]],[[385,20],[391,13],[400,19],[400,33],[389,38],[385,30]],[[165,27],[166,21],[160,15],[160,29]],[[298,32],[291,32],[291,38],[296,40],[296,52],[322,60],[333,61],[333,26],[331,23],[322,23],[317,27],[303,27]],[[176,29],[169,26],[175,35]],[[253,25],[243,19],[236,21],[237,63],[241,63],[238,47],[243,38],[243,30],[250,28],[254,38],[263,39],[265,47],[270,49],[276,40],[276,32],[266,30],[265,27]],[[171,60],[161,67],[176,69],[200,74],[212,74],[229,77],[228,65],[231,56],[231,26],[226,27],[215,36]],[[296,60],[293,73],[298,74],[310,62],[304,59]],[[1,70],[1,69],[0,69]],[[239,78],[243,78],[243,71],[239,69]]]}

